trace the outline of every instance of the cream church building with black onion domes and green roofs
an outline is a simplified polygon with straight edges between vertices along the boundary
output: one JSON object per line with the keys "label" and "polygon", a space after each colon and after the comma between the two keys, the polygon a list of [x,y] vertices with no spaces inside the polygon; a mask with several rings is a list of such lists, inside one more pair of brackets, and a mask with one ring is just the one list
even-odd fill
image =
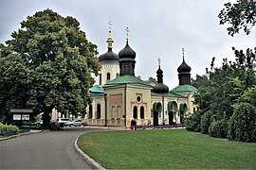
{"label": "cream church building with black onion domes and green roofs", "polygon": [[107,38],[107,52],[99,57],[101,71],[90,89],[91,104],[87,107],[87,125],[130,127],[183,124],[196,106],[191,85],[191,67],[185,62],[177,68],[179,84],[172,90],[163,81],[163,70],[158,59],[157,80],[142,80],[135,74],[136,52],[127,38],[119,54],[113,52],[111,30]]}

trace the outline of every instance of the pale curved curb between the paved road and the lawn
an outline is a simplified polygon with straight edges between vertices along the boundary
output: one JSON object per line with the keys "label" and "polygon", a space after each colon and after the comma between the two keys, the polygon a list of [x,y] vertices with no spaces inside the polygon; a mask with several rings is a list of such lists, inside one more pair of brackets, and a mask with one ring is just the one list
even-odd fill
{"label": "pale curved curb between the paved road and the lawn", "polygon": [[[82,133],[84,134],[84,133]],[[82,135],[80,134],[76,140],[75,140],[75,144],[74,144],[74,147],[77,151],[77,153],[82,156],[82,159],[84,161],[86,161],[88,163],[89,166],[91,166],[93,169],[100,169],[100,170],[105,170],[104,167],[101,166],[101,164],[99,164],[98,162],[94,161],[93,159],[91,159],[87,154],[83,153],[82,150],[79,148],[77,142],[78,142],[78,138]]]}

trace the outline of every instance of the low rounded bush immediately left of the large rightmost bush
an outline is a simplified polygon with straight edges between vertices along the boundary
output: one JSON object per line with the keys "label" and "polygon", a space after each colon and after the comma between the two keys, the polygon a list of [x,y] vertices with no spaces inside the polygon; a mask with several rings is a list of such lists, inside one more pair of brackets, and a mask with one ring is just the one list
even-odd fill
{"label": "low rounded bush immediately left of the large rightmost bush", "polygon": [[227,119],[212,121],[209,127],[209,134],[211,137],[214,137],[214,138],[227,138],[227,135],[228,135]]}

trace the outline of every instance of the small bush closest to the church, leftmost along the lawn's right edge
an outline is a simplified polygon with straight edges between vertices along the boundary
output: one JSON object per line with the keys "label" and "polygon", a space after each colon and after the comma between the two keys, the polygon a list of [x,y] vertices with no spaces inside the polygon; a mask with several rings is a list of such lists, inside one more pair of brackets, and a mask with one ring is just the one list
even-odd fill
{"label": "small bush closest to the church, leftmost along the lawn's right edge", "polygon": [[195,111],[191,117],[185,119],[186,128],[189,131],[201,131],[201,114],[198,111]]}

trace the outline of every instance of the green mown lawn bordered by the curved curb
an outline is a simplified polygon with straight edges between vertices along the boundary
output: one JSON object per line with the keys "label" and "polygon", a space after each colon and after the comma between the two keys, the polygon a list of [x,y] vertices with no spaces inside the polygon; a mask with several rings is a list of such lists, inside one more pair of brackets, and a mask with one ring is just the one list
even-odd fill
{"label": "green mown lawn bordered by the curved curb", "polygon": [[78,145],[107,169],[256,168],[256,144],[186,129],[92,132]]}

